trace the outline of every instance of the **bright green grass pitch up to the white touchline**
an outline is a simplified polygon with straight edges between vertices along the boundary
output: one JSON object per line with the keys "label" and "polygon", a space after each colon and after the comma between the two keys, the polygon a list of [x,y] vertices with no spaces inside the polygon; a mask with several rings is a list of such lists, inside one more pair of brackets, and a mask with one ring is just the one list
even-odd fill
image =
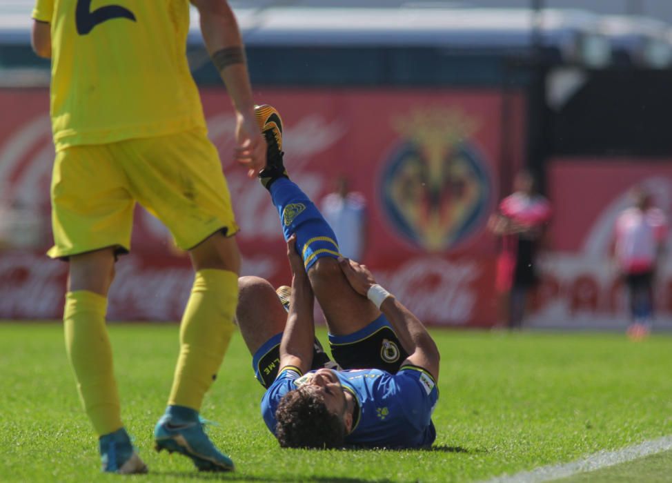
{"label": "bright green grass pitch up to the white touchline", "polygon": [[[210,435],[237,471],[199,474],[184,457],[151,450],[177,331],[110,326],[123,418],[151,472],[132,480],[472,481],[672,434],[669,335],[633,343],[620,334],[434,331],[442,368],[433,451],[281,450],[235,335],[202,413],[221,424]],[[0,371],[0,481],[118,480],[99,473],[60,324],[0,324]]]}

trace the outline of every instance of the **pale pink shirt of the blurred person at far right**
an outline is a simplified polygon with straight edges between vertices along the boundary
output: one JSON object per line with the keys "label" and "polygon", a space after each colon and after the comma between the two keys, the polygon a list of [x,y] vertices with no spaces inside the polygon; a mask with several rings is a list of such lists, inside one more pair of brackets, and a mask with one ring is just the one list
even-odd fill
{"label": "pale pink shirt of the blurred person at far right", "polygon": [[615,256],[626,273],[653,269],[658,247],[667,236],[665,214],[659,208],[628,208],[616,220]]}

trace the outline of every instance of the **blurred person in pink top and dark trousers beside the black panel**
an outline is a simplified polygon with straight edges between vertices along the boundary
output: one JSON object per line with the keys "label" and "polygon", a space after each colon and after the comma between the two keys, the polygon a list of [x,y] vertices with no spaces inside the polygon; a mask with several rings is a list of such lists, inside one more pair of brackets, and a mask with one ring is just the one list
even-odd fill
{"label": "blurred person in pink top and dark trousers beside the black panel", "polygon": [[537,284],[536,255],[551,221],[551,204],[537,193],[531,172],[518,172],[514,193],[504,198],[488,229],[499,238],[495,288],[500,317],[508,328],[521,328],[528,295]]}

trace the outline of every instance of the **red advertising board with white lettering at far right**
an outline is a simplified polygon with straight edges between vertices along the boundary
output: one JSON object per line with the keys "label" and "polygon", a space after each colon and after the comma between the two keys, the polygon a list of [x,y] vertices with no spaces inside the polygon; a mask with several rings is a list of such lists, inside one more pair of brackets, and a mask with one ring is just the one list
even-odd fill
{"label": "red advertising board with white lettering at far right", "polygon": [[[611,259],[615,221],[631,206],[629,193],[643,186],[669,215],[672,159],[554,159],[549,197],[554,219],[542,259],[540,299],[530,323],[537,326],[616,328],[629,322],[626,294]],[[672,327],[672,259],[657,274],[655,325]]]}

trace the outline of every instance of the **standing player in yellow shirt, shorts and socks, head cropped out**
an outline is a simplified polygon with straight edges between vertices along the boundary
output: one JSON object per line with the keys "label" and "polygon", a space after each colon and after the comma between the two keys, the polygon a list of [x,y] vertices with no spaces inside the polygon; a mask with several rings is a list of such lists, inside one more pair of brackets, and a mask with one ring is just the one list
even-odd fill
{"label": "standing player in yellow shirt, shorts and socks, head cropped out", "polygon": [[56,159],[52,258],[68,260],[66,351],[95,432],[103,471],[145,473],[121,422],[106,328],[117,256],[128,253],[141,203],[188,250],[195,279],[180,326],[180,351],[157,450],[199,470],[230,471],[199,411],[234,331],[238,226],[217,149],[209,141],[186,59],[189,9],[237,119],[235,159],[253,176],[266,164],[237,21],[226,0],[37,0],[32,46],[52,59]]}

